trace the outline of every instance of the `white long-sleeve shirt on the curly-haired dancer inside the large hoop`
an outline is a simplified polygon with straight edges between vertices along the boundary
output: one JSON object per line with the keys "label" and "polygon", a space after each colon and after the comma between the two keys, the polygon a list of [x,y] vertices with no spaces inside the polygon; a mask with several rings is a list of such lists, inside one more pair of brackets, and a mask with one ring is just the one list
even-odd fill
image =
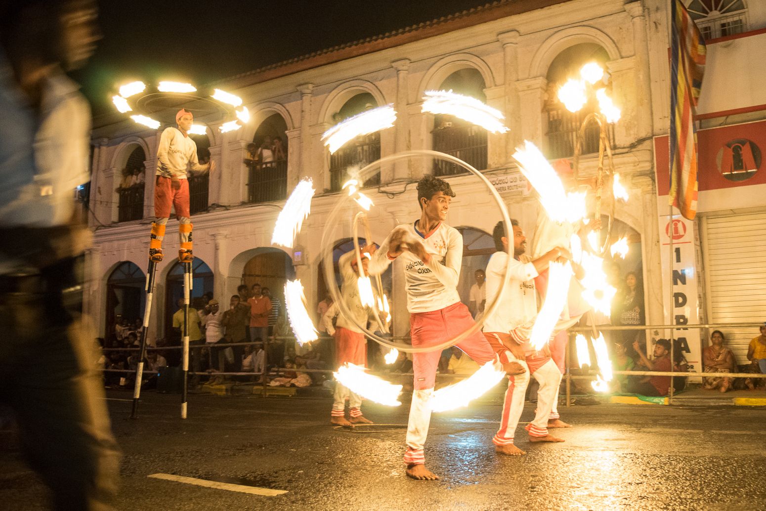
{"label": "white long-sleeve shirt on the curly-haired dancer inside the large hoop", "polygon": [[[457,282],[463,262],[463,236],[444,222],[428,234],[418,232],[416,224],[399,226],[397,229],[404,229],[409,239],[424,245],[431,256],[429,262],[424,263],[410,251],[404,251],[398,259],[404,268],[407,310],[410,313],[427,313],[460,302]],[[368,266],[370,274],[381,274],[391,264],[388,258],[390,239],[391,234],[388,234],[380,249],[372,256]]]}

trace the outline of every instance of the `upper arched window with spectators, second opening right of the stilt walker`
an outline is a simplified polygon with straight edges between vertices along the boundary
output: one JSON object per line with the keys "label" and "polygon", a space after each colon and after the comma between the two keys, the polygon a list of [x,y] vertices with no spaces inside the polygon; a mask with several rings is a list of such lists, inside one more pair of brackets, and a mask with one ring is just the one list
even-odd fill
{"label": "upper arched window with spectators, second opening right of the stilt walker", "polygon": [[250,169],[247,200],[281,201],[287,196],[287,124],[279,113],[260,123],[247,145],[245,165]]}

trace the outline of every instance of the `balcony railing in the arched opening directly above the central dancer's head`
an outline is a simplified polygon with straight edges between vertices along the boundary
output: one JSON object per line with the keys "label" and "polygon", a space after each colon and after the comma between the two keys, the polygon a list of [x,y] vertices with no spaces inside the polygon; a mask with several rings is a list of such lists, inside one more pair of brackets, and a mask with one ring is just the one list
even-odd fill
{"label": "balcony railing in the arched opening directly above the central dancer's head", "polygon": [[[477,170],[486,169],[486,129],[470,126],[459,121],[441,123],[431,132],[434,151],[446,152],[472,165]],[[467,172],[460,165],[434,161],[434,175],[455,175]]]}

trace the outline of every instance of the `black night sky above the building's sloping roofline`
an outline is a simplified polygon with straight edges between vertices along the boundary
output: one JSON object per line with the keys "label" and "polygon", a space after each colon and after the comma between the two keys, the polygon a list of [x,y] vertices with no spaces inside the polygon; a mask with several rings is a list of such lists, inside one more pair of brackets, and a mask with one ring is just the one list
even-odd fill
{"label": "black night sky above the building's sloping roofline", "polygon": [[205,84],[486,3],[102,0],[103,39],[73,76],[98,114],[110,108],[114,86],[126,80]]}

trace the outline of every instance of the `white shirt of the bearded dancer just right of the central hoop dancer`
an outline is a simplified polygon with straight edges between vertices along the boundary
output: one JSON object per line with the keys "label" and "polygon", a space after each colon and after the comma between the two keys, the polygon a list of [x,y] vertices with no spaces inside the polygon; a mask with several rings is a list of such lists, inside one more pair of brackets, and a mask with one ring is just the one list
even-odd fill
{"label": "white shirt of the bearded dancer just right of the central hoop dancer", "polygon": [[500,303],[494,312],[484,319],[484,332],[508,333],[517,326],[529,323],[537,315],[537,294],[535,281],[538,273],[535,265],[525,254],[521,260],[511,258],[506,252],[495,252],[486,265],[486,303],[496,300],[510,264],[508,286],[502,293]]}

